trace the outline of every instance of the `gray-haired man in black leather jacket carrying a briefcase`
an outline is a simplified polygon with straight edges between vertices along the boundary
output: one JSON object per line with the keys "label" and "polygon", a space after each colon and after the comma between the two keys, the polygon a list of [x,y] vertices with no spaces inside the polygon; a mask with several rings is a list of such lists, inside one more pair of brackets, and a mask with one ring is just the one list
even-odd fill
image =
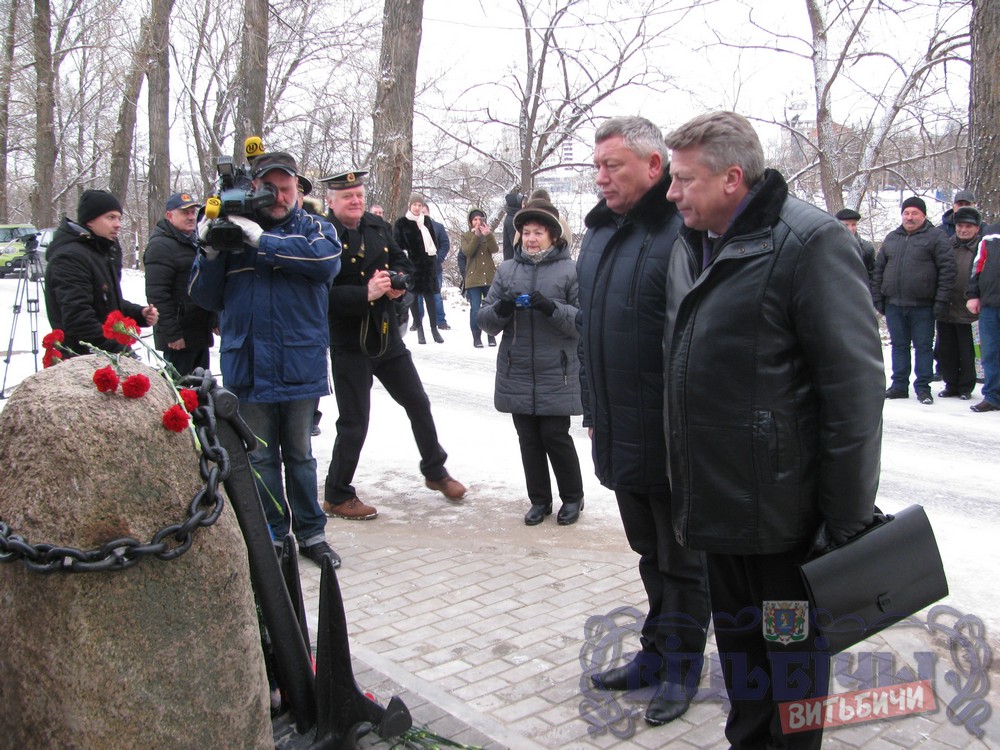
{"label": "gray-haired man in black leather jacket carrying a briefcase", "polygon": [[[702,115],[666,143],[685,225],[664,342],[674,532],[707,553],[730,743],[818,748],[821,729],[782,736],[778,703],[828,690],[798,564],[821,529],[842,542],[872,520],[884,374],[867,275],[850,233],[764,169],[743,117]],[[778,629],[778,611],[804,627]]]}

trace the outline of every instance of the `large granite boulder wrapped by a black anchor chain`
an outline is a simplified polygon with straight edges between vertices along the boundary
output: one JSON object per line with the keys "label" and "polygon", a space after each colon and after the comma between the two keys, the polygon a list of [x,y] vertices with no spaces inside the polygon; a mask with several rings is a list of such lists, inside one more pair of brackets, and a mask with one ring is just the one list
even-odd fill
{"label": "large granite boulder wrapped by a black anchor chain", "polygon": [[[98,392],[106,358],[25,380],[0,412],[0,520],[31,544],[147,543],[181,523],[202,485],[174,399]],[[0,564],[0,746],[273,747],[246,548],[228,503],[172,561],[42,575]]]}

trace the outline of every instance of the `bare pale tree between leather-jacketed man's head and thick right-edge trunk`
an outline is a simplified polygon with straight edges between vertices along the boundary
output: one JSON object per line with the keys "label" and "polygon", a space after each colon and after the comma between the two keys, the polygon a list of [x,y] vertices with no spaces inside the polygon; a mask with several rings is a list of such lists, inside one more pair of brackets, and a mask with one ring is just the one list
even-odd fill
{"label": "bare pale tree between leather-jacketed man's head and thick right-edge trunk", "polygon": [[913,165],[963,147],[964,135],[943,136],[963,127],[964,102],[948,83],[954,64],[968,64],[967,0],[804,0],[804,9],[809,30],[797,35],[768,28],[747,6],[761,41],[739,45],[811,66],[813,116],[805,101],[789,102],[775,120],[794,145],[784,166],[800,189],[819,192],[829,211],[843,208],[845,193],[858,208],[883,183],[909,184]]}

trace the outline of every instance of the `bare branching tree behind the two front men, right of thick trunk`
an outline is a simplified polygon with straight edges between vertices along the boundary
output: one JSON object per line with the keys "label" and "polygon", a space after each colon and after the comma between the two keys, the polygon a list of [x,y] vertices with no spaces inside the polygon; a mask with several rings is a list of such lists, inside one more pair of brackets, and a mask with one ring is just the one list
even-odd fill
{"label": "bare branching tree behind the two front men, right of thick trunk", "polygon": [[[459,102],[488,91],[477,107],[445,104],[429,119],[469,154],[501,166],[498,192],[527,192],[546,170],[564,166],[565,144],[580,139],[602,104],[627,89],[670,88],[667,42],[691,4],[654,0],[512,0],[523,25],[523,61],[489,84],[477,84]],[[505,115],[516,112],[516,118]],[[456,122],[458,120],[458,122]],[[483,125],[503,133],[484,141]],[[436,177],[436,175],[435,175]]]}

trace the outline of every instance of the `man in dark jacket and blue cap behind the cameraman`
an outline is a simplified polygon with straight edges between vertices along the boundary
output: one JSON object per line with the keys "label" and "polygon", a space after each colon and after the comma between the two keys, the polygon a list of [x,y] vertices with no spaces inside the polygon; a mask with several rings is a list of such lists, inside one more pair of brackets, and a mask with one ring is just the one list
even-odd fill
{"label": "man in dark jacket and blue cap behind the cameraman", "polygon": [[194,304],[187,292],[198,251],[194,229],[199,208],[201,204],[188,193],[167,198],[164,218],[156,222],[142,256],[146,299],[160,311],[153,340],[163,358],[182,376],[196,367],[208,369],[216,325],[215,314]]}

